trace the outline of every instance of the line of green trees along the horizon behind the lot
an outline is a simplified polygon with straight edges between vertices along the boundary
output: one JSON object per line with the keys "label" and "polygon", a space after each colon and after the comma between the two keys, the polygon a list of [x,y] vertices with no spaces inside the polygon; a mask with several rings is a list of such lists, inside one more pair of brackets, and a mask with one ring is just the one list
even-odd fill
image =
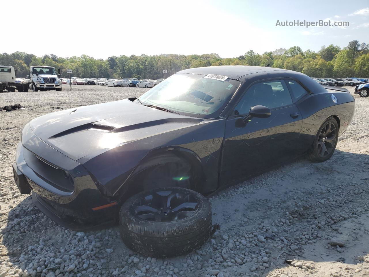
{"label": "line of green trees along the horizon behind the lot", "polygon": [[28,75],[31,65],[45,65],[60,68],[63,77],[68,77],[66,69],[73,70],[73,76],[80,78],[138,78],[158,79],[187,68],[215,65],[270,65],[305,73],[311,77],[369,77],[369,45],[357,40],[350,41],[346,47],[330,44],[322,46],[318,52],[298,46],[289,49],[279,48],[275,51],[255,53],[247,51],[234,58],[221,58],[218,54],[177,55],[161,54],[148,56],[111,56],[107,59],[94,59],[87,55],[80,57],[57,57],[54,54],[37,57],[25,52],[0,54],[0,65],[14,66],[18,77]]}

